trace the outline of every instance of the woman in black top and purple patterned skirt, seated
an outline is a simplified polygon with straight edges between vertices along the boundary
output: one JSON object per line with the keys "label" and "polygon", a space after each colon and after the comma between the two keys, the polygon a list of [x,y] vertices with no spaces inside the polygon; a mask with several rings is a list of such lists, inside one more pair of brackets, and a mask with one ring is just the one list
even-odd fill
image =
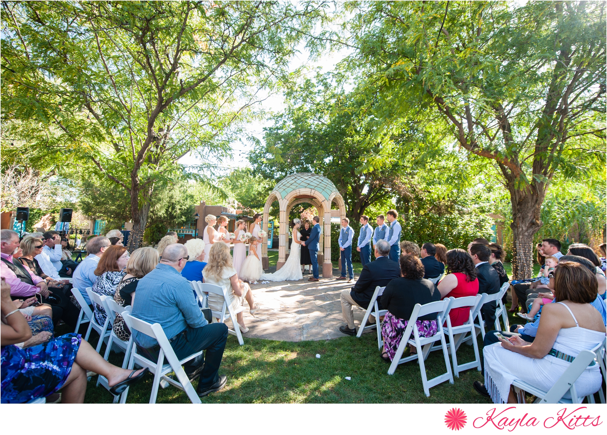
{"label": "woman in black top and purple patterned skirt, seated", "polygon": [[[424,305],[441,298],[434,283],[424,278],[424,265],[418,257],[401,255],[400,263],[401,278],[390,281],[381,295],[381,305],[388,310],[381,328],[384,338],[381,357],[388,362],[396,354],[415,304]],[[420,337],[432,337],[438,328],[436,313],[420,317],[415,327]]]}

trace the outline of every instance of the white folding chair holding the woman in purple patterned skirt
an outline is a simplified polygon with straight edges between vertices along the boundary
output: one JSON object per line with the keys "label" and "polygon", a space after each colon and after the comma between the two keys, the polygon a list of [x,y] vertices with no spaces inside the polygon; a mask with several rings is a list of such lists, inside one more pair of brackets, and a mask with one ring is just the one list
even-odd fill
{"label": "white folding chair holding the woman in purple patterned skirt", "polygon": [[[433,386],[445,382],[446,380],[449,380],[449,383],[453,383],[453,374],[451,373],[449,353],[447,352],[447,343],[445,342],[445,334],[443,331],[443,319],[450,302],[450,298],[446,298],[445,300],[430,302],[426,305],[415,305],[409,322],[407,323],[407,328],[402,334],[401,343],[399,343],[398,349],[396,349],[396,354],[392,359],[392,364],[390,364],[390,368],[388,369],[388,374],[394,374],[394,372],[396,371],[396,367],[399,364],[415,359],[418,360],[419,371],[421,372],[421,382],[424,386],[424,393],[426,393],[427,397],[430,396],[430,388],[432,388]],[[436,312],[436,334],[432,337],[419,337],[419,332],[416,328],[415,322],[417,321],[418,317],[432,314],[433,312]],[[412,332],[413,339],[410,339]],[[439,340],[441,342],[440,348],[443,349],[443,356],[445,358],[445,365],[447,366],[447,373],[441,374],[440,376],[436,376],[435,378],[428,380],[426,377],[426,366],[424,365],[424,360],[426,360],[426,358],[430,354],[430,349],[432,349],[432,343],[438,342]],[[406,358],[401,358],[402,352],[405,351],[405,347],[407,346],[407,344],[415,346],[417,349],[417,353],[412,354]],[[424,348],[422,348],[422,346],[424,346]]]}

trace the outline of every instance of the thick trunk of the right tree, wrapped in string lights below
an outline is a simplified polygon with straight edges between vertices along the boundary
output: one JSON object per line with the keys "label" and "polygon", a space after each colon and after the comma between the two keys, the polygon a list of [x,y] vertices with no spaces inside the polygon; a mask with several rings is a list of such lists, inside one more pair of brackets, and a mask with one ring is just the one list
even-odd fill
{"label": "thick trunk of the right tree, wrapped in string lights below", "polygon": [[[533,272],[533,239],[543,225],[540,220],[541,203],[545,192],[543,186],[526,186],[523,191],[509,186],[512,203],[512,275],[515,279],[531,278]],[[532,192],[535,191],[535,192]]]}

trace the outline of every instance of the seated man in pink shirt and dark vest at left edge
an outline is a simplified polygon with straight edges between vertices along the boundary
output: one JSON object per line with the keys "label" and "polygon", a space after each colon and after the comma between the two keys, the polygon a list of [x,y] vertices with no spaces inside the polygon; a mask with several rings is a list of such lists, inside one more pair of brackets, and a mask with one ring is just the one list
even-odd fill
{"label": "seated man in pink shirt and dark vest at left edge", "polygon": [[[10,295],[12,297],[31,297],[39,293],[42,297],[46,298],[49,295],[49,289],[44,279],[34,275],[32,271],[21,265],[19,261],[13,263],[13,254],[17,252],[18,248],[19,234],[10,229],[3,229],[0,235],[0,255],[2,256],[0,272],[6,282],[10,284]],[[27,275],[25,274],[26,272]],[[24,280],[21,280],[17,274],[24,278]]]}

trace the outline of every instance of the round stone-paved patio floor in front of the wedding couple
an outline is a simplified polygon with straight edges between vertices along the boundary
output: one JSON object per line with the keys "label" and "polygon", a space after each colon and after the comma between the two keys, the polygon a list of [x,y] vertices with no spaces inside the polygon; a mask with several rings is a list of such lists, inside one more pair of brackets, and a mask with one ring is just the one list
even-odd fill
{"label": "round stone-paved patio floor in front of the wedding couple", "polygon": [[[344,289],[354,285],[358,277],[354,277],[351,283],[336,280],[339,277],[337,269],[333,269],[334,278],[321,277],[319,282],[308,282],[310,276],[306,272],[303,280],[258,282],[251,286],[260,309],[252,315],[245,303],[243,315],[249,332],[243,337],[288,342],[345,337],[339,331],[339,326],[344,325],[339,297]],[[354,308],[357,328],[363,315],[362,309]],[[229,325],[231,322],[228,319],[226,323]]]}

